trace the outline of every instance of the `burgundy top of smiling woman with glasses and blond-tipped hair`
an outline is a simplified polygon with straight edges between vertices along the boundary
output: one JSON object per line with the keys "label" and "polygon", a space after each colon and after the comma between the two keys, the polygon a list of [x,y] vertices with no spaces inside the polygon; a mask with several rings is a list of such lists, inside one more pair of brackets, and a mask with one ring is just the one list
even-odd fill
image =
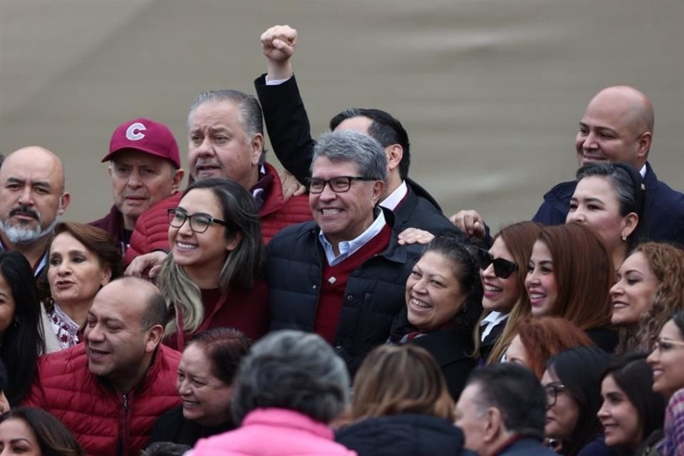
{"label": "burgundy top of smiling woman with glasses and blond-tipped hair", "polygon": [[[209,328],[224,326],[236,328],[256,341],[269,331],[269,286],[263,280],[254,283],[251,290],[234,288],[226,296],[218,289],[202,290],[204,303],[204,321],[197,331],[183,334],[183,342],[187,342],[196,333]],[[217,306],[219,306],[217,308]],[[174,349],[178,347],[177,334],[170,334],[164,343]]]}

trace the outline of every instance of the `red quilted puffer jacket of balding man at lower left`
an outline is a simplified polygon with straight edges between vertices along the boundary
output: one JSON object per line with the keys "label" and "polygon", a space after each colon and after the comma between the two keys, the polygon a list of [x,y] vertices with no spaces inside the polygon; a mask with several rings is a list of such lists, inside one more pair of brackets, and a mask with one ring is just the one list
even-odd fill
{"label": "red quilted puffer jacket of balding man at lower left", "polygon": [[159,346],[145,377],[120,395],[88,369],[83,343],[42,356],[22,405],[42,408],[73,432],[86,454],[137,456],[155,420],[180,404],[176,377],[180,353]]}

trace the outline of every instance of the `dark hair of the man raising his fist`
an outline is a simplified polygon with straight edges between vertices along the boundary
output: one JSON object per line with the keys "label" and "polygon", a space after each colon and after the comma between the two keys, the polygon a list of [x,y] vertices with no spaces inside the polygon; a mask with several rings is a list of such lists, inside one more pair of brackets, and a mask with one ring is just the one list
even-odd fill
{"label": "dark hair of the man raising his fist", "polygon": [[408,177],[408,168],[410,167],[410,143],[408,142],[408,133],[404,129],[399,120],[393,118],[392,115],[379,109],[367,108],[349,108],[343,110],[330,120],[330,129],[335,130],[343,121],[355,117],[366,117],[372,120],[371,126],[368,127],[368,135],[376,141],[380,142],[383,147],[388,145],[398,144],[403,149],[403,155],[399,162],[399,175],[405,180]]}

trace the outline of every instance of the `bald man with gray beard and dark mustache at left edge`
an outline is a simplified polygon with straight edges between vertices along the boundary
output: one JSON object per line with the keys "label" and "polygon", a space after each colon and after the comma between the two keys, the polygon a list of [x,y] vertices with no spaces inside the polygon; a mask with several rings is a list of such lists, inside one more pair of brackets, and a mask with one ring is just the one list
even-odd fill
{"label": "bald man with gray beard and dark mustache at left edge", "polygon": [[0,250],[21,252],[40,274],[70,198],[57,155],[38,146],[12,152],[0,167]]}

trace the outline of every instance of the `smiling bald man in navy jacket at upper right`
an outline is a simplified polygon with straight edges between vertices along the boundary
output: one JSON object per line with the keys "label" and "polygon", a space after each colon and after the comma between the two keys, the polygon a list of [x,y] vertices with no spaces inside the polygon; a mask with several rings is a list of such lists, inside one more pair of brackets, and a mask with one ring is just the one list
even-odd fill
{"label": "smiling bald man in navy jacket at upper right", "polygon": [[[684,246],[684,194],[655,176],[648,162],[653,142],[653,106],[646,95],[628,86],[604,88],[591,99],[579,122],[575,150],[579,165],[626,163],[640,170],[646,184],[646,218],[653,241]],[[562,182],[544,195],[532,219],[565,223],[576,181]]]}

